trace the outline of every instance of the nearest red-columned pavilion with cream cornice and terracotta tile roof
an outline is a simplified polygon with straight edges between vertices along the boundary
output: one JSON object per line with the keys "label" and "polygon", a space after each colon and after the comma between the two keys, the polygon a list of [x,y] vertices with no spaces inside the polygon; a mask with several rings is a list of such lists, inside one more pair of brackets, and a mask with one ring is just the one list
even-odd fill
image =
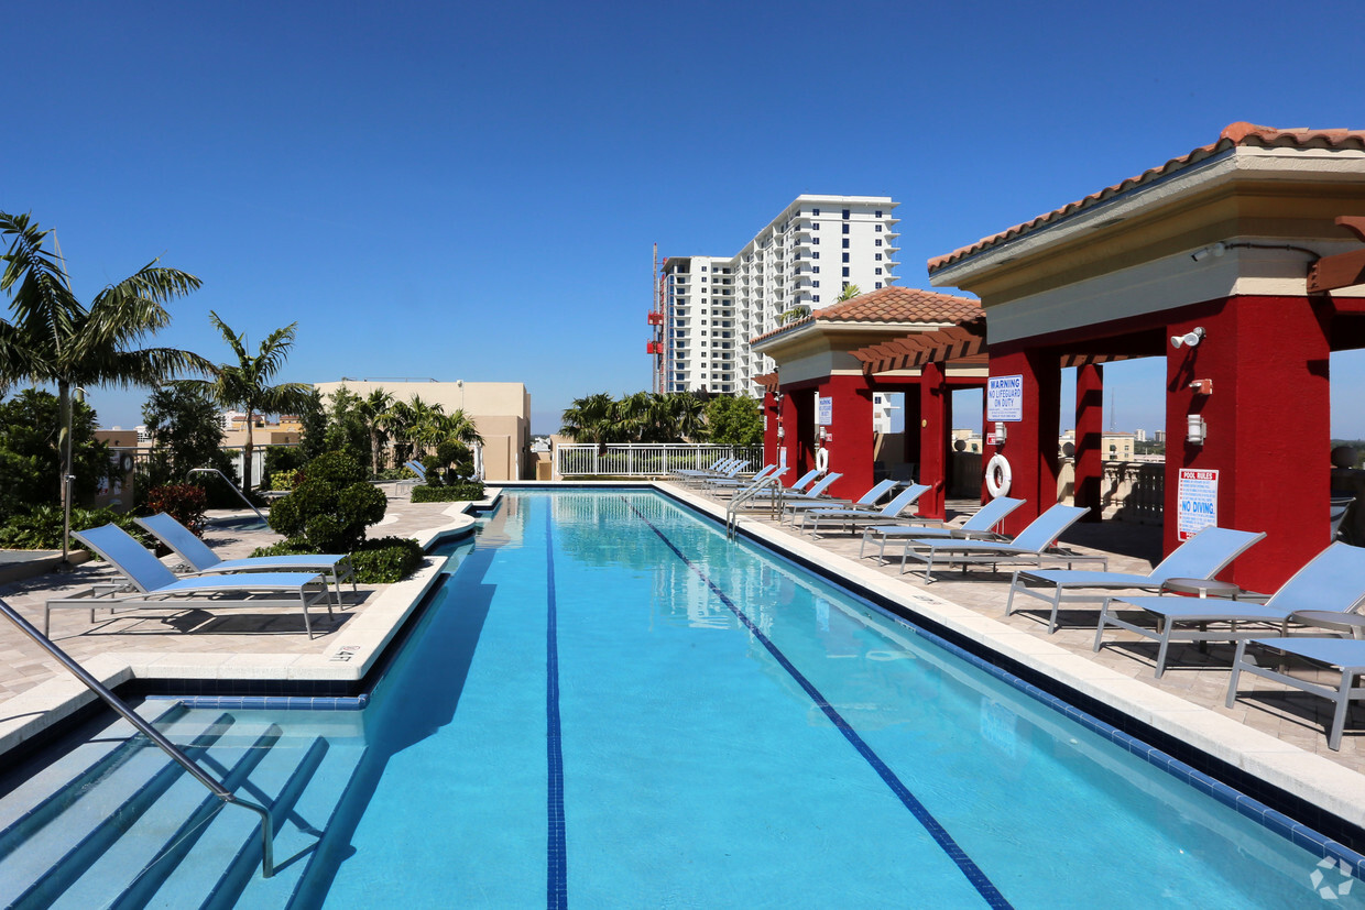
{"label": "nearest red-columned pavilion with cream cornice and terracotta tile roof", "polygon": [[931,259],[932,284],[990,315],[995,453],[1028,501],[1009,529],[1057,499],[1062,367],[1077,367],[1077,495],[1097,505],[1102,364],[1164,357],[1166,551],[1208,523],[1264,531],[1234,580],[1275,589],[1321,550],[1328,355],[1365,347],[1362,218],[1365,132],[1233,124]]}

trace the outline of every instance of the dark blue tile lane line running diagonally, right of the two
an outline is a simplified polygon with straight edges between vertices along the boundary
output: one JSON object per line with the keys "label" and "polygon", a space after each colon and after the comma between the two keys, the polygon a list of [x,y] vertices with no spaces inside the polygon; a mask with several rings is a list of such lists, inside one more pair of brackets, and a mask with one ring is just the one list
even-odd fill
{"label": "dark blue tile lane line running diagonally, right of the two", "polygon": [[972,887],[975,887],[976,891],[986,899],[987,905],[992,907],[1010,907],[1010,902],[1006,900],[1005,895],[999,892],[995,884],[986,877],[986,873],[981,872],[980,866],[977,866],[976,862],[966,855],[966,851],[957,845],[953,835],[950,835],[943,825],[939,824],[938,819],[935,819],[934,814],[924,808],[924,804],[921,804],[915,794],[910,793],[909,787],[906,787],[905,783],[895,776],[895,772],[891,771],[885,761],[882,761],[882,759],[872,750],[872,746],[867,745],[863,737],[860,737],[857,731],[849,726],[849,722],[844,719],[834,705],[826,701],[824,696],[820,694],[820,690],[816,689],[815,685],[807,679],[790,660],[786,659],[786,655],[784,655],[778,647],[773,644],[756,625],[753,625],[744,611],[740,610],[723,591],[721,591],[719,585],[717,585],[699,566],[688,559],[672,540],[669,540],[667,535],[659,531],[652,521],[646,518],[629,499],[622,497],[621,501],[627,503],[631,512],[633,512],[640,521],[648,525],[648,528],[658,535],[659,540],[662,540],[678,559],[681,559],[692,572],[696,573],[699,578],[702,578],[702,581],[706,583],[706,587],[708,587],[711,592],[719,598],[721,603],[723,603],[726,608],[729,608],[729,611],[733,613],[741,623],[744,623],[744,628],[749,630],[749,634],[752,634],[759,644],[762,644],[767,652],[773,655],[773,659],[777,660],[784,670],[786,670],[792,679],[794,679],[796,684],[805,690],[805,694],[811,697],[811,701],[814,701],[815,705],[824,712],[824,716],[830,719],[834,727],[844,734],[844,738],[848,739],[857,753],[863,756],[874,771],[876,771],[876,774],[886,782],[886,784],[891,789],[891,793],[897,795],[905,808],[910,810],[915,820],[919,821],[925,831],[928,831],[930,836],[934,838],[935,843],[938,843],[943,853],[946,853],[949,858],[957,864],[957,868],[962,870],[962,875],[966,876],[966,880],[972,883]]}

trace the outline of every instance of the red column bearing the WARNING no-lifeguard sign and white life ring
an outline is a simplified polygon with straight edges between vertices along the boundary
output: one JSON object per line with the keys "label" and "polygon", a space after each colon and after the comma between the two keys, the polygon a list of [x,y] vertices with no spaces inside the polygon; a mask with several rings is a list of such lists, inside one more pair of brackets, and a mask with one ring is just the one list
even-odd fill
{"label": "red column bearing the WARNING no-lifeguard sign and white life ring", "polygon": [[[987,460],[999,453],[1010,464],[1009,495],[1025,499],[1005,521],[1018,533],[1057,503],[1057,434],[1061,419],[1062,371],[1057,355],[1037,349],[991,351],[991,378],[1021,377],[1022,420],[1005,424],[1006,442],[987,446]],[[994,432],[987,423],[987,432]]]}

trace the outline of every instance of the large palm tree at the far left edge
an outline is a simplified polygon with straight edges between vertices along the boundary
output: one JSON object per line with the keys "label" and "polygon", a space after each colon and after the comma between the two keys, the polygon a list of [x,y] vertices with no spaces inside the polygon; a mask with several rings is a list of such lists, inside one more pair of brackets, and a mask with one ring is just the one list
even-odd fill
{"label": "large palm tree at the far left edge", "polygon": [[[55,383],[60,402],[61,476],[71,473],[71,393],[82,386],[157,386],[213,363],[177,348],[136,348],[171,325],[165,303],[199,288],[187,271],[153,259],[132,276],[105,287],[90,306],[71,291],[60,251],[44,248],[52,231],[30,216],[0,211],[0,236],[10,243],[0,291],[10,293],[12,322],[0,321],[0,392],[16,382]],[[66,503],[67,484],[59,479]],[[66,539],[63,539],[63,551]]]}

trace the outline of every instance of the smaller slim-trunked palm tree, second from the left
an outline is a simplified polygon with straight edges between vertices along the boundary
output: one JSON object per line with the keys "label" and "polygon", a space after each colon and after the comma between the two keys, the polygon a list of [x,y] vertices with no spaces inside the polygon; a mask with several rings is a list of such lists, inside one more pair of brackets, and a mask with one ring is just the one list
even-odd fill
{"label": "smaller slim-trunked palm tree, second from the left", "polygon": [[251,424],[258,413],[283,413],[302,411],[307,404],[313,386],[303,382],[283,382],[272,386],[270,379],[289,359],[293,347],[293,330],[299,325],[291,322],[272,332],[253,357],[247,353],[246,333],[238,334],[228,327],[218,314],[209,311],[209,322],[222,333],[222,340],[232,348],[238,362],[213,367],[213,379],[202,382],[220,408],[242,408],[247,415],[247,441],[242,446],[242,490],[251,490]]}

